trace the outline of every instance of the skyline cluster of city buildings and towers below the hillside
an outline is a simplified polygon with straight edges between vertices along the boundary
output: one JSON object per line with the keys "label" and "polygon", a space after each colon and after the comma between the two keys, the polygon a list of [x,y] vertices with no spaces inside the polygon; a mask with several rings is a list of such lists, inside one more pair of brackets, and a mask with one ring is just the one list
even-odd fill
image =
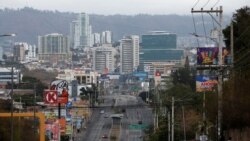
{"label": "skyline cluster of city buildings and towers below the hillside", "polygon": [[174,66],[183,64],[184,50],[177,48],[174,33],[151,31],[141,36],[124,36],[118,46],[113,42],[111,31],[92,33],[88,14],[80,13],[70,23],[69,36],[59,33],[38,36],[37,47],[15,43],[13,56],[20,63],[39,62],[59,68],[70,79],[76,77],[66,69],[121,75],[146,72],[148,78],[154,78],[156,73],[169,76]]}

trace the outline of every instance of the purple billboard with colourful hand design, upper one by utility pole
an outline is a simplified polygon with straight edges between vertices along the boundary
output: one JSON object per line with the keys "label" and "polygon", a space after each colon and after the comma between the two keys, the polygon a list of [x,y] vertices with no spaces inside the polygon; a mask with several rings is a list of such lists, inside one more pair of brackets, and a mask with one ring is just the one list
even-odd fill
{"label": "purple billboard with colourful hand design, upper one by utility pole", "polygon": [[[197,48],[197,65],[218,65],[219,48],[218,47],[201,47]],[[230,51],[222,49],[222,64],[230,64]]]}

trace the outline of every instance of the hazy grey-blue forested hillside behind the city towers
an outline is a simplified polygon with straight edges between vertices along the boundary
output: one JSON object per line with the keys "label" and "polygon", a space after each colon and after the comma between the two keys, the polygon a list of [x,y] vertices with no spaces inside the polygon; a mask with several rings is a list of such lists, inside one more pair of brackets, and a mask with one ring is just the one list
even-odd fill
{"label": "hazy grey-blue forested hillside behind the city towers", "polygon": [[[188,13],[189,14],[189,13]],[[69,35],[69,24],[77,13],[58,11],[39,11],[32,8],[0,10],[0,34],[16,33],[15,41],[37,44],[37,36],[49,33]],[[228,23],[228,17],[224,17]],[[197,31],[203,32],[201,16],[195,17]],[[205,17],[206,28],[212,27],[211,17]],[[90,15],[93,32],[111,30],[115,41],[124,35],[141,35],[152,30],[165,30],[187,36],[194,32],[191,16],[180,15]],[[208,32],[209,33],[209,32]]]}

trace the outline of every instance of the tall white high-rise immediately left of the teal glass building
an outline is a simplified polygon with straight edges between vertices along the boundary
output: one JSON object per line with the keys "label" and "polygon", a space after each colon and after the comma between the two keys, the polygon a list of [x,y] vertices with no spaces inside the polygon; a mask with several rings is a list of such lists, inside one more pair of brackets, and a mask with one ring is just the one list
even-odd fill
{"label": "tall white high-rise immediately left of the teal glass building", "polygon": [[131,73],[139,66],[139,36],[126,36],[120,44],[120,73]]}

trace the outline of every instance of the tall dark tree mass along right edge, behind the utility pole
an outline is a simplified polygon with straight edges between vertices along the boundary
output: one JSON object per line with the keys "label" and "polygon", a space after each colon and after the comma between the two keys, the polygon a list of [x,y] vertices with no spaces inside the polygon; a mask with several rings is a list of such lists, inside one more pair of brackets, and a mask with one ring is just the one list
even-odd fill
{"label": "tall dark tree mass along right edge, behind the utility pole", "polygon": [[[234,68],[230,79],[223,85],[223,127],[227,131],[238,129],[241,134],[250,127],[250,7],[238,9],[232,24]],[[223,30],[227,48],[230,48],[230,32],[230,26]]]}

